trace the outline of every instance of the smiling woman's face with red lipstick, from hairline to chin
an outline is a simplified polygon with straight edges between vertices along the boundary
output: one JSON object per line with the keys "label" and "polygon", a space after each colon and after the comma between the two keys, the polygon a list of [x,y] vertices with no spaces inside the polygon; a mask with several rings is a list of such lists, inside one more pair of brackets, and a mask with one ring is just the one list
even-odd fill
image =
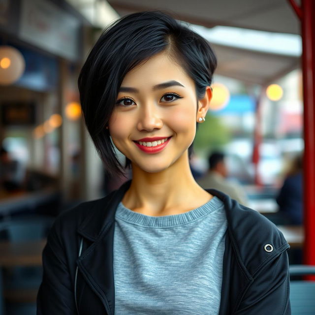
{"label": "smiling woman's face with red lipstick, from hairline to chin", "polygon": [[126,74],[109,131],[132,165],[154,173],[188,153],[196,119],[205,113],[197,114],[193,80],[181,66],[159,53]]}

